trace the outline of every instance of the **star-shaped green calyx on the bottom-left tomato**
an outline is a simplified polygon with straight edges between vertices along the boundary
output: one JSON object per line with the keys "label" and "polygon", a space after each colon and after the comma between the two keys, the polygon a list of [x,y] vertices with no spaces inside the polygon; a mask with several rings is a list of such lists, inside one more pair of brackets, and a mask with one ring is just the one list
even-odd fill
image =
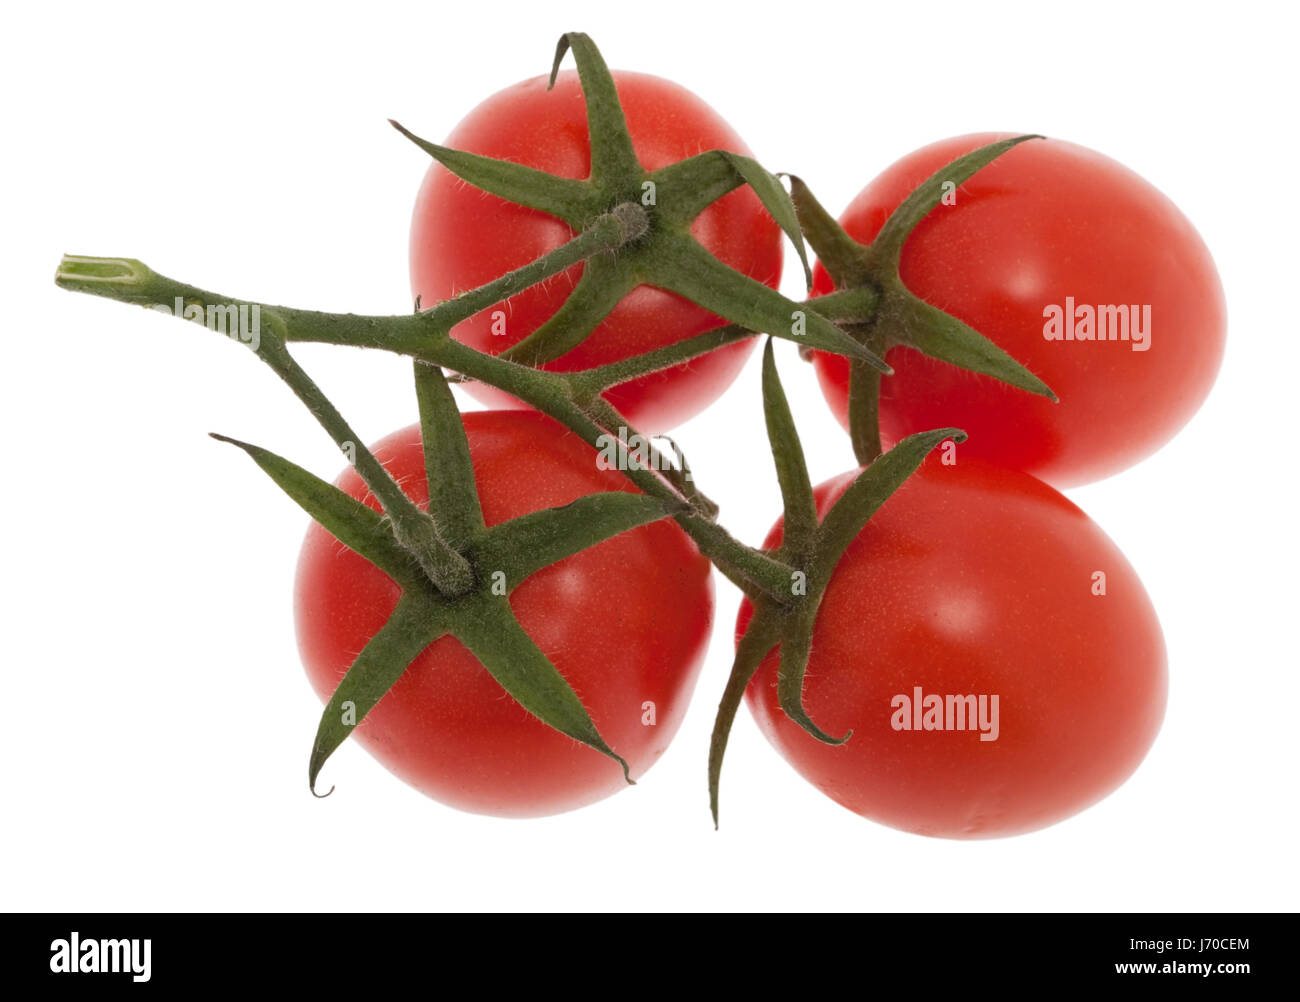
{"label": "star-shaped green calyx on the bottom-left tomato", "polygon": [[[348,668],[321,715],[308,768],[313,790],[325,760],[411,662],[445,636],[464,643],[520,706],[608,755],[627,776],[627,763],[606,745],[564,676],[520,626],[508,597],[523,581],[556,560],[663,519],[664,507],[644,494],[612,491],[485,526],[464,425],[443,374],[416,363],[415,378],[429,482],[429,507],[421,512],[425,521],[416,525],[428,525],[432,538],[463,561],[468,584],[455,591],[446,590],[424,571],[416,558],[419,547],[403,538],[387,512],[376,512],[273,452],[214,435],[247,452],[312,519],[402,587],[393,616]],[[359,446],[358,469],[363,467],[363,454],[370,455]],[[382,478],[396,486],[382,467],[380,470]],[[376,496],[382,495],[376,493]],[[448,541],[455,542],[455,548]]]}

